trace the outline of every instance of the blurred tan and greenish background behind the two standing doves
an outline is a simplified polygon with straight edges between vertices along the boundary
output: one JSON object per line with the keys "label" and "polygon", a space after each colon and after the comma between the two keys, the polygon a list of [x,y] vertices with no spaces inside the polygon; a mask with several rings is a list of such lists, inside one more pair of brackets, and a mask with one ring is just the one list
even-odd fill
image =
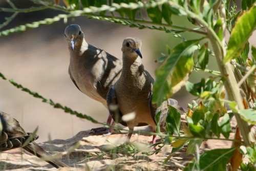
{"label": "blurred tan and greenish background behind the two standing doves", "polygon": [[[18,8],[28,8],[31,5],[30,1],[12,2],[15,2]],[[4,1],[0,2],[0,7],[10,8]],[[1,31],[47,17],[51,18],[59,13],[54,10],[20,13]],[[4,18],[11,14],[0,12],[0,23],[5,22]],[[176,25],[190,25],[186,17],[173,18]],[[161,53],[166,54],[166,45],[174,48],[181,42],[181,39],[174,37],[172,33],[148,29],[139,30],[82,16],[69,18],[67,23],[60,20],[52,25],[43,25],[23,33],[0,37],[1,73],[31,91],[75,111],[90,115],[100,122],[106,121],[108,110],[101,103],[82,94],[74,86],[68,74],[70,57],[63,32],[70,24],[80,25],[89,44],[102,48],[119,59],[122,57],[123,39],[128,36],[140,38],[144,67],[154,78],[155,70],[159,66],[155,60],[161,56]],[[188,33],[182,35],[186,39],[200,36]],[[253,45],[255,45],[255,38],[254,34],[254,39],[250,39]],[[208,68],[217,70],[216,61],[212,56],[210,56]],[[202,77],[207,76],[203,72],[193,72],[189,81],[198,82]],[[183,107],[186,107],[187,103],[191,103],[191,100],[194,99],[184,87],[173,98],[177,99]],[[38,142],[49,139],[68,139],[79,131],[101,126],[85,119],[79,119],[60,109],[54,109],[51,105],[42,103],[40,99],[20,91],[3,79],[0,79],[0,110],[16,118],[27,132],[33,132],[38,126]]]}

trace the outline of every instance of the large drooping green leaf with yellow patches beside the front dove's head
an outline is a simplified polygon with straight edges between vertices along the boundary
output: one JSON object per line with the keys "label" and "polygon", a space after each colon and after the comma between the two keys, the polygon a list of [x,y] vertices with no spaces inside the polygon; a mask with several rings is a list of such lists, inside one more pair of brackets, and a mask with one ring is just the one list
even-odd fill
{"label": "large drooping green leaf with yellow patches beside the front dove's head", "polygon": [[177,45],[162,66],[156,70],[153,86],[153,103],[160,105],[180,90],[194,67],[194,52],[199,40],[189,40]]}

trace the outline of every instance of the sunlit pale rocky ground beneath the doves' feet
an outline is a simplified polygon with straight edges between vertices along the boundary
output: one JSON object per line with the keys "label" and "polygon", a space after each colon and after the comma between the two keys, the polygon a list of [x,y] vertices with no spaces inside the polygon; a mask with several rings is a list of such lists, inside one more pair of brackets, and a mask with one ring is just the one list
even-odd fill
{"label": "sunlit pale rocky ground beneath the doves' feet", "polygon": [[[137,127],[137,129],[139,129]],[[144,128],[140,128],[143,130]],[[146,130],[146,129],[144,129]],[[232,135],[231,135],[232,137]],[[186,155],[186,146],[175,153],[165,164],[163,161],[172,151],[171,145],[165,145],[158,154],[152,154],[153,148],[147,145],[152,136],[133,135],[131,143],[140,152],[136,154],[124,153],[123,148],[118,146],[124,143],[126,134],[115,134],[110,136],[90,135],[90,130],[79,132],[67,140],[53,140],[39,145],[52,154],[58,153],[62,162],[68,167],[58,170],[182,170],[184,166],[194,157]],[[158,138],[157,141],[160,141]],[[79,143],[74,151],[66,153],[75,144]],[[215,148],[229,148],[231,142],[208,140],[202,143],[199,152]],[[126,152],[129,151],[126,149]],[[45,161],[37,157],[23,153],[20,149],[0,154],[0,169],[6,170],[57,170]]]}

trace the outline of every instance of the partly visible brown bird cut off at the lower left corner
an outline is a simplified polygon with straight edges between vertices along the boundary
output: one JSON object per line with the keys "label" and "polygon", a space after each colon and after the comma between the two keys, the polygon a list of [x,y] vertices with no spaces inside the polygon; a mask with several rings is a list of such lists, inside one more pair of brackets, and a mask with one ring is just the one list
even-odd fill
{"label": "partly visible brown bird cut off at the lower left corner", "polygon": [[[21,147],[25,149],[25,151],[39,158],[51,156],[51,154],[46,152],[34,142],[38,136],[33,136],[30,133],[26,133],[19,125],[19,122],[11,115],[0,111],[0,118],[0,125],[2,125],[2,129],[0,129],[0,152]],[[69,167],[57,159],[46,160],[46,162],[50,163],[56,168]]]}

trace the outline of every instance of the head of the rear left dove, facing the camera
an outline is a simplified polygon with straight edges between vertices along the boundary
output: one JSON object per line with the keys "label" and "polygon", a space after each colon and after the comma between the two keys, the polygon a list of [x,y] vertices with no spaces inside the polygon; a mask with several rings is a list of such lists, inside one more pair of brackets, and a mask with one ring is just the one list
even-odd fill
{"label": "head of the rear left dove, facing the camera", "polygon": [[75,47],[80,47],[83,41],[83,32],[78,25],[69,25],[66,27],[65,39],[68,41],[68,45],[74,50]]}

